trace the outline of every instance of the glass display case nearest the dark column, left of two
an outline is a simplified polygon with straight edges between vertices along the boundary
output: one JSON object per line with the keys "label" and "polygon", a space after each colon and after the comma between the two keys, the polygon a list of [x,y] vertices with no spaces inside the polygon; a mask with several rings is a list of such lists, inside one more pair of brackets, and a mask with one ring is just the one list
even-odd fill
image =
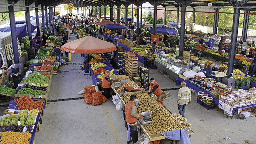
{"label": "glass display case nearest the dark column, left of two", "polygon": [[157,70],[162,73],[162,74],[166,74],[165,73],[165,64],[167,62],[167,60],[169,60],[169,57],[166,57],[166,54],[157,54],[156,55],[156,59],[154,61],[154,65],[157,66]]}

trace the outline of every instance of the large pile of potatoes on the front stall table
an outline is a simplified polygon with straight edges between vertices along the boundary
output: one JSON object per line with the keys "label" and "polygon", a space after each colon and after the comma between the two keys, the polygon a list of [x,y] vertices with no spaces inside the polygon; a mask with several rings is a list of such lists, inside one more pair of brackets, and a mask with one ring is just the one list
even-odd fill
{"label": "large pile of potatoes on the front stall table", "polygon": [[[140,106],[137,107],[138,115],[141,115],[144,111],[151,112],[152,114],[150,116],[152,123],[148,126],[144,126],[149,135],[183,129],[179,120],[174,118],[162,105],[147,93],[141,92],[139,94],[135,94],[135,96],[140,100]],[[125,104],[130,101],[130,97],[131,94],[122,97]]]}

